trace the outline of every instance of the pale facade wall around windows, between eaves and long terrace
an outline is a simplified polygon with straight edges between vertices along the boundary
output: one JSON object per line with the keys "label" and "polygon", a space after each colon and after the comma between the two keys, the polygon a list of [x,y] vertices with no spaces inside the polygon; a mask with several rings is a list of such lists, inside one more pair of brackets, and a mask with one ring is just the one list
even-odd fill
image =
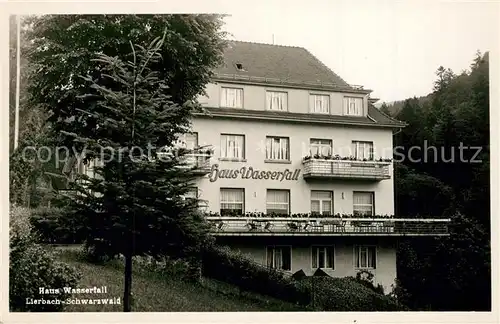
{"label": "pale facade wall around windows, between eaves and long terrace", "polygon": [[[351,214],[353,212],[353,191],[375,192],[375,213],[392,215],[394,213],[393,168],[390,167],[391,179],[382,181],[364,180],[309,180],[302,178],[302,158],[308,154],[310,138],[329,138],[333,140],[334,153],[351,147],[352,140],[373,141],[375,157],[392,157],[392,133],[386,129],[348,128],[343,126],[299,125],[291,123],[241,121],[229,119],[196,118],[193,131],[198,133],[200,145],[214,145],[215,155],[212,163],[219,169],[240,169],[253,167],[260,171],[283,171],[301,169],[298,180],[258,180],[258,179],[218,179],[210,182],[208,175],[199,179],[198,188],[201,199],[208,200],[209,210],[219,211],[219,193],[221,187],[245,189],[245,210],[247,212],[265,212],[266,189],[290,189],[291,212],[310,212],[311,190],[332,190],[334,192],[334,213]],[[245,135],[246,162],[219,161],[221,133]],[[288,164],[266,163],[266,135],[288,136],[290,138],[290,158]],[[384,152],[386,149],[386,152]]]}

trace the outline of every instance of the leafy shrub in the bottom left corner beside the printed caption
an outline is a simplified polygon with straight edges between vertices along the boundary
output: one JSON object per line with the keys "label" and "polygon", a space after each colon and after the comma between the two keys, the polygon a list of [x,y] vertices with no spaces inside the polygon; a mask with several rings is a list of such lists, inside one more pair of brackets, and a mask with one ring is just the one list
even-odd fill
{"label": "leafy shrub in the bottom left corner beside the printed caption", "polygon": [[64,300],[61,294],[39,293],[39,289],[72,287],[78,283],[77,271],[58,262],[53,253],[36,243],[26,208],[11,206],[9,303],[11,311],[60,311],[63,304],[29,304],[30,298]]}

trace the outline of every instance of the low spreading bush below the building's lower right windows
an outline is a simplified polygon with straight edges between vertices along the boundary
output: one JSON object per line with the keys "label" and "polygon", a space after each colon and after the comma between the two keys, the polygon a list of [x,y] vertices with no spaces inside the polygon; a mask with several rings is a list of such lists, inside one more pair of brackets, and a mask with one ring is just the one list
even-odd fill
{"label": "low spreading bush below the building's lower right windows", "polygon": [[405,311],[394,298],[381,295],[360,284],[354,277],[332,278],[313,276],[300,281],[311,291],[312,305],[322,311]]}

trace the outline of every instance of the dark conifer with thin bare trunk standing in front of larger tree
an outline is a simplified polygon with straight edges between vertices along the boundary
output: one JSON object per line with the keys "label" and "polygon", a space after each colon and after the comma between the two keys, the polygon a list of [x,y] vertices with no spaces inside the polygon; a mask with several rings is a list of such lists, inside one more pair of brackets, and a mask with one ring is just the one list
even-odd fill
{"label": "dark conifer with thin bare trunk standing in front of larger tree", "polygon": [[88,242],[125,257],[125,311],[134,255],[189,258],[209,240],[197,199],[183,198],[196,177],[196,163],[185,162],[193,152],[159,154],[186,131],[190,111],[189,103],[180,106],[162,91],[165,80],[150,68],[161,59],[162,45],[163,39],[148,48],[131,44],[124,58],[99,55],[102,73],[85,77],[94,91],[81,96],[88,103],[81,113],[93,117],[96,132],[66,134],[84,145],[85,163],[101,162],[93,167],[95,176],[78,175],[73,200]]}

